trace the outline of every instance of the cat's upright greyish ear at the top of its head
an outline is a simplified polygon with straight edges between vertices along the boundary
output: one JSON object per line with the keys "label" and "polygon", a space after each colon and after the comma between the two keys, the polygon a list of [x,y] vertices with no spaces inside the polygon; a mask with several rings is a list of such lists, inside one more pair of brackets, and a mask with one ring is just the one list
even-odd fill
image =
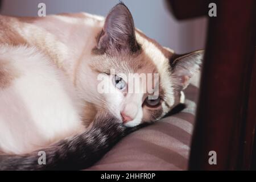
{"label": "cat's upright greyish ear at the top of its head", "polygon": [[97,48],[108,53],[138,51],[139,44],[135,38],[133,17],[123,3],[114,6],[106,17],[103,30],[98,37]]}

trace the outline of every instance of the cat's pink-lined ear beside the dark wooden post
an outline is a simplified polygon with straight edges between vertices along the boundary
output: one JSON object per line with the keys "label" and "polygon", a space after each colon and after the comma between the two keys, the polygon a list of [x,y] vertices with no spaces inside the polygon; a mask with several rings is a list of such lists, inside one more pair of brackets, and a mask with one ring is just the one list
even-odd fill
{"label": "cat's pink-lined ear beside the dark wooden post", "polygon": [[175,80],[175,85],[180,90],[185,89],[190,81],[190,78],[200,71],[203,61],[204,51],[195,51],[183,55],[172,56],[171,68],[172,78]]}

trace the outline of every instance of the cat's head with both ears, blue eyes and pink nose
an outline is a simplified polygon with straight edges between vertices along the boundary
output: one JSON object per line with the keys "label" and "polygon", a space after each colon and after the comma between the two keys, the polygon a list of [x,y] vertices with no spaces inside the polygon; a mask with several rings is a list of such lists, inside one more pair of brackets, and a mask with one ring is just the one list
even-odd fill
{"label": "cat's head with both ears, blue eyes and pink nose", "polygon": [[92,54],[98,91],[104,88],[109,111],[132,127],[156,121],[179,104],[203,51],[178,56],[160,46],[135,29],[130,11],[119,3],[106,17]]}

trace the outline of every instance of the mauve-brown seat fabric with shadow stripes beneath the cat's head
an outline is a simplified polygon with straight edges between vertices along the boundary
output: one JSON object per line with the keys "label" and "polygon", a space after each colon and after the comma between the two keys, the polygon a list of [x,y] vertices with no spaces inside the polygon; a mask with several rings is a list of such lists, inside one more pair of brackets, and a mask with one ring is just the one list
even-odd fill
{"label": "mauve-brown seat fabric with shadow stripes beneath the cat's head", "polygon": [[183,111],[125,137],[89,169],[187,169],[198,88],[189,85],[184,93],[187,107]]}

